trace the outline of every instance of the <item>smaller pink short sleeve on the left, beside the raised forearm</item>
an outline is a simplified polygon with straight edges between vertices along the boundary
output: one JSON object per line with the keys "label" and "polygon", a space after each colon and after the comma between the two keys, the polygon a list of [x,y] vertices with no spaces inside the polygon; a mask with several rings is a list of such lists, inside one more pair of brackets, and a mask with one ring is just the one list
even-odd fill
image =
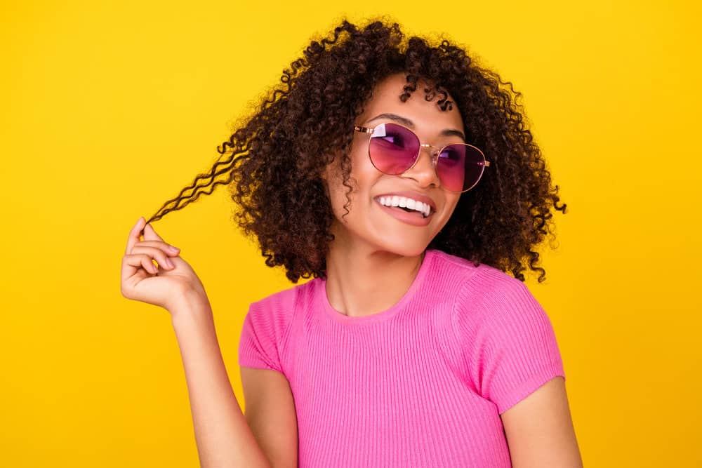
{"label": "smaller pink short sleeve on the left, beside the raised forearm", "polygon": [[244,318],[239,339],[239,366],[283,372],[279,328],[274,309],[254,302]]}

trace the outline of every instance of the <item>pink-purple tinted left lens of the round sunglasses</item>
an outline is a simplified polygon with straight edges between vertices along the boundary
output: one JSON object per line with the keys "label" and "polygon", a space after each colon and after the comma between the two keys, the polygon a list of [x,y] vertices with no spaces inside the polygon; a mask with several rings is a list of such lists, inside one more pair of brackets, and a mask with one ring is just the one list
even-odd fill
{"label": "pink-purple tinted left lens of the round sunglasses", "polygon": [[403,126],[394,123],[378,125],[369,144],[373,166],[386,174],[402,174],[411,168],[419,154],[417,136]]}

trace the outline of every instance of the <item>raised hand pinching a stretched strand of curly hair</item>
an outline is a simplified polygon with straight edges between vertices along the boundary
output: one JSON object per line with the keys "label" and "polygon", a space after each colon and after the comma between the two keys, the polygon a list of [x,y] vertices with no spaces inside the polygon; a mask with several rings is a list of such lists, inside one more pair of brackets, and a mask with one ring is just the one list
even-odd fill
{"label": "raised hand pinching a stretched strand of curly hair", "polygon": [[[206,299],[204,286],[190,265],[180,258],[180,250],[166,243],[145,222],[143,217],[139,218],[129,232],[122,258],[122,295],[164,307],[169,312],[185,294],[196,293]],[[140,240],[142,229],[143,241]],[[159,266],[155,266],[152,260],[156,260]]]}

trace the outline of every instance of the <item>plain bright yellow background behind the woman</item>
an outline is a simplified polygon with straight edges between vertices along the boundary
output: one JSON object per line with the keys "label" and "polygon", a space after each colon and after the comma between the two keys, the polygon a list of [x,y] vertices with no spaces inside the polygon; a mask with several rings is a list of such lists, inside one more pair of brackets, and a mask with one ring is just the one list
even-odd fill
{"label": "plain bright yellow background behind the woman", "polygon": [[[585,466],[700,466],[696,2],[38,1],[0,7],[0,465],[193,467],[168,313],[126,300],[128,230],[207,171],[314,35],[390,13],[515,83],[569,213],[547,281]],[[225,187],[155,223],[210,297],[234,391],[249,303],[292,286]]]}

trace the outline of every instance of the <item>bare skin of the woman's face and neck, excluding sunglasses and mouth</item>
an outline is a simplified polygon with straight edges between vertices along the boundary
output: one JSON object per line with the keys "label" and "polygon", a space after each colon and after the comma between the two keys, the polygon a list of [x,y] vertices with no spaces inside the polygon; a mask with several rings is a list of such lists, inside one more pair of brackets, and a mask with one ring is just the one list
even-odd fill
{"label": "bare skin of the woman's face and neck, excluding sunglasses and mouth", "polygon": [[[439,136],[445,128],[463,131],[463,119],[454,106],[442,111],[434,101],[424,99],[426,83],[418,83],[411,98],[402,102],[398,95],[406,83],[404,74],[394,74],[378,83],[373,98],[355,121],[373,127],[393,122],[389,118],[371,120],[378,114],[392,113],[413,122],[411,128],[420,142],[442,146],[460,143],[458,136]],[[449,99],[451,97],[449,96]],[[342,185],[338,165],[331,163],[323,175],[336,217],[331,227],[334,241],[326,258],[326,293],[329,303],[340,314],[376,314],[396,304],[409,290],[419,271],[423,252],[451,218],[461,194],[441,186],[428,149],[409,171],[386,175],[378,171],[368,156],[368,133],[355,132],[350,157],[351,178],[356,180],[350,194],[349,213],[342,218],[347,187]],[[385,213],[374,199],[390,192],[413,191],[429,196],[436,204],[427,226],[409,225]],[[397,239],[402,239],[398,242]]]}

